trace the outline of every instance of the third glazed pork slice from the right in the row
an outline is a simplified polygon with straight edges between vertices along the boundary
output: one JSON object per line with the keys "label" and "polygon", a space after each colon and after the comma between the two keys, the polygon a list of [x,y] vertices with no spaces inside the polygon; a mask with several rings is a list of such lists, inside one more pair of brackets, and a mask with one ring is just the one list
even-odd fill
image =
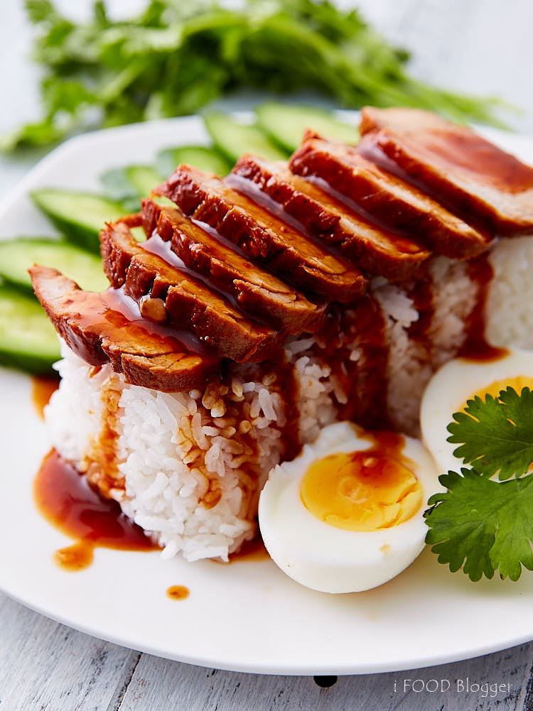
{"label": "third glazed pork slice from the right in the row", "polygon": [[247,154],[239,159],[226,182],[270,211],[297,221],[323,242],[338,247],[369,274],[403,281],[420,271],[429,250],[390,230],[372,225],[329,193],[293,175],[287,164]]}

